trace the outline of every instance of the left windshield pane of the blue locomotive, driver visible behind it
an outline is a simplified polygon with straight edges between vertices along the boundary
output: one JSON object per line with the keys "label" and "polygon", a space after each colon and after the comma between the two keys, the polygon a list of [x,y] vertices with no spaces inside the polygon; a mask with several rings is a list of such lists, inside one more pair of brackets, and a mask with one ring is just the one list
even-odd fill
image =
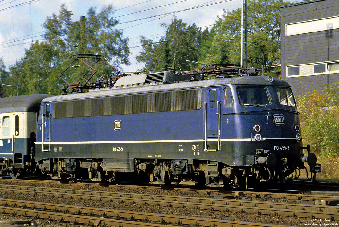
{"label": "left windshield pane of the blue locomotive, driver visible behind it", "polygon": [[272,99],[265,87],[238,87],[238,98],[242,106],[270,105]]}

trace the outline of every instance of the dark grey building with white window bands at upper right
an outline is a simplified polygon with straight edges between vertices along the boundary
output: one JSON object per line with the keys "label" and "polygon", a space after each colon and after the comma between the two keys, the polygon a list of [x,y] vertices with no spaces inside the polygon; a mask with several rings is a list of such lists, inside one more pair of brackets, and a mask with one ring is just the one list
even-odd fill
{"label": "dark grey building with white window bands at upper right", "polygon": [[281,78],[296,99],[339,80],[339,0],[281,7]]}

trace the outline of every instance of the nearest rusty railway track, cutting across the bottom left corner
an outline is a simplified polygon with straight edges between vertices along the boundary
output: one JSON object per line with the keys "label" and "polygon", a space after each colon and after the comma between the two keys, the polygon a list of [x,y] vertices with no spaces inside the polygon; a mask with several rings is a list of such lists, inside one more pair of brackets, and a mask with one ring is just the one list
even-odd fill
{"label": "nearest rusty railway track, cutting across the bottom left corner", "polygon": [[[128,226],[128,227],[165,227],[175,225],[190,226],[218,226],[218,227],[281,227],[280,225],[260,224],[250,222],[238,222],[218,219],[206,219],[200,217],[186,217],[177,215],[166,215],[158,213],[143,213],[123,210],[110,210],[93,207],[49,204],[29,202],[21,200],[0,199],[0,212],[15,213],[25,216],[67,221],[71,223],[93,223],[94,225]],[[20,204],[20,207],[18,206]]]}

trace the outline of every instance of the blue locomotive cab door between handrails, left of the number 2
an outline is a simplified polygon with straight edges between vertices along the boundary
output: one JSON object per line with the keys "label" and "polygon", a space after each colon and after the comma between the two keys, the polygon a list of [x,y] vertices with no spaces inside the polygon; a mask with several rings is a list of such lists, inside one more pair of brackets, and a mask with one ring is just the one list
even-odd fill
{"label": "blue locomotive cab door between handrails, left of the number 2", "polygon": [[211,88],[207,91],[207,102],[205,102],[205,150],[218,151],[220,148],[220,91]]}

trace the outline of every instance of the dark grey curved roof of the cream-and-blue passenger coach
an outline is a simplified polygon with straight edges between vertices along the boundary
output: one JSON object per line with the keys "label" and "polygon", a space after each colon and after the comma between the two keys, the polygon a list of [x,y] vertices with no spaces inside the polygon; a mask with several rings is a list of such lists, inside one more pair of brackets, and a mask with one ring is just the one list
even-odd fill
{"label": "dark grey curved roof of the cream-and-blue passenger coach", "polygon": [[49,94],[27,94],[0,98],[0,113],[37,112],[41,101]]}

